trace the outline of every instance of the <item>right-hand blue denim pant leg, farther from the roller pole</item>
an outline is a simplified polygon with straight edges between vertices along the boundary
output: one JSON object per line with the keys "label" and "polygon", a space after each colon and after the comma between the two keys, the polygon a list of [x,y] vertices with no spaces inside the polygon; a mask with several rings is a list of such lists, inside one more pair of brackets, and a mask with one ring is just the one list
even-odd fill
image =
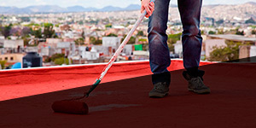
{"label": "right-hand blue denim pant leg, farther from the roller pole", "polygon": [[197,73],[201,58],[201,3],[202,0],[177,0],[183,23],[183,65],[190,73]]}

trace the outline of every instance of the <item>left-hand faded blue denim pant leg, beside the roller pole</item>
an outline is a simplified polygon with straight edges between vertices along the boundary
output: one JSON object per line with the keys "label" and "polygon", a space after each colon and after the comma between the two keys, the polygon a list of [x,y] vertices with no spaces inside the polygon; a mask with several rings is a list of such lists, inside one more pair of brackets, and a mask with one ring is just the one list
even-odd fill
{"label": "left-hand faded blue denim pant leg, beside the roller pole", "polygon": [[149,64],[154,73],[153,84],[158,82],[170,83],[170,52],[166,35],[168,10],[170,0],[156,0],[153,15],[148,22]]}

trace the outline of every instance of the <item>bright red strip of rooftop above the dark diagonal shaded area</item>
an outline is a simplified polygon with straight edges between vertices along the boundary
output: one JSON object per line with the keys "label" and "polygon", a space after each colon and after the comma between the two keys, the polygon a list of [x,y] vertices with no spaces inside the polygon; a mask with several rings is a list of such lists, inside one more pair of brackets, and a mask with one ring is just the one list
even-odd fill
{"label": "bright red strip of rooftop above the dark diagonal shaded area", "polygon": [[[181,63],[182,61],[172,61],[172,66],[168,69],[181,69]],[[106,64],[0,71],[0,101],[91,85],[105,66]],[[148,61],[114,63],[102,83],[148,74],[151,74]]]}

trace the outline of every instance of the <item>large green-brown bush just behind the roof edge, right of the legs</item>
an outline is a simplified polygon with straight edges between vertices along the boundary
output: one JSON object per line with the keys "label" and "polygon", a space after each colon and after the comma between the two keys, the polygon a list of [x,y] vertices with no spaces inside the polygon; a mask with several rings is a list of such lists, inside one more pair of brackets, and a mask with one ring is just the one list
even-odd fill
{"label": "large green-brown bush just behind the roof edge, right of the legs", "polygon": [[239,59],[239,46],[241,43],[227,41],[227,46],[214,46],[209,61],[233,61]]}

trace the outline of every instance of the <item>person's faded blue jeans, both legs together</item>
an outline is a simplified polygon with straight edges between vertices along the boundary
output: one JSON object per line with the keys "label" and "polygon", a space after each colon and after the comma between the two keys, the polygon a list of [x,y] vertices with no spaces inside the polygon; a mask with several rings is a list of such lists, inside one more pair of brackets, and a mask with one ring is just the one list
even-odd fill
{"label": "person's faded blue jeans, both legs together", "polygon": [[[154,84],[170,81],[169,75],[166,76],[171,64],[166,35],[169,3],[170,0],[156,0],[148,22],[149,63]],[[201,3],[202,0],[177,0],[183,24],[183,66],[188,71],[191,69],[191,73],[197,72],[201,58]]]}

